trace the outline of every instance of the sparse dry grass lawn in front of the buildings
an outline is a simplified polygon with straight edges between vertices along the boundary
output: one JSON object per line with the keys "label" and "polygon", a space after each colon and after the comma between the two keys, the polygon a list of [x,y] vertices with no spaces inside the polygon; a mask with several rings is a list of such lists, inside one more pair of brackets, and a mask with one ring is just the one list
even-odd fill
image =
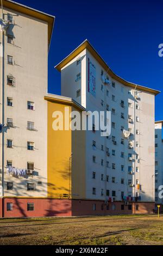
{"label": "sparse dry grass lawn in front of the buildings", "polygon": [[0,245],[163,245],[163,215],[0,219]]}

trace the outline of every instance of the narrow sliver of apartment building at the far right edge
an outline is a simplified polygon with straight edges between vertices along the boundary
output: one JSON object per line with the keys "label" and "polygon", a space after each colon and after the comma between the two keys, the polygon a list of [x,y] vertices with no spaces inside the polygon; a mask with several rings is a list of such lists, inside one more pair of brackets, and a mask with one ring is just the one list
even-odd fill
{"label": "narrow sliver of apartment building at the far right edge", "polygon": [[159,189],[163,185],[163,170],[162,170],[162,156],[163,156],[163,141],[162,141],[162,124],[163,121],[155,122],[155,206],[160,205],[162,211],[163,199],[159,198]]}

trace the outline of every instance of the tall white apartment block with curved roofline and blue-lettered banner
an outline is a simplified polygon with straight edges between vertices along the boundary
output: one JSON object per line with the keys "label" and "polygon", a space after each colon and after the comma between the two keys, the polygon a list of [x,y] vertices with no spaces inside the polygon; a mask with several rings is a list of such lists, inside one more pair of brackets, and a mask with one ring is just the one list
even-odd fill
{"label": "tall white apartment block with curved roofline and blue-lettered banner", "polygon": [[83,214],[153,212],[154,100],[159,92],[118,77],[87,40],[55,68],[61,72],[61,95],[86,111],[111,112],[109,136],[102,137],[95,123],[86,131]]}

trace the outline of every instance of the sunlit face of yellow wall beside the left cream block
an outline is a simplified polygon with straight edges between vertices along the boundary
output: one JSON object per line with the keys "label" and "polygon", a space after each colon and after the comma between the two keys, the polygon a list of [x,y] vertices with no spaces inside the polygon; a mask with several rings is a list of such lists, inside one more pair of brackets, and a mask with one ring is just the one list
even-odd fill
{"label": "sunlit face of yellow wall beside the left cream block", "polygon": [[[71,131],[54,131],[52,118],[54,111],[65,112],[64,104],[47,101],[48,105],[48,197],[63,198],[63,194],[71,194],[70,156],[71,156]],[[71,111],[71,106],[69,106]]]}

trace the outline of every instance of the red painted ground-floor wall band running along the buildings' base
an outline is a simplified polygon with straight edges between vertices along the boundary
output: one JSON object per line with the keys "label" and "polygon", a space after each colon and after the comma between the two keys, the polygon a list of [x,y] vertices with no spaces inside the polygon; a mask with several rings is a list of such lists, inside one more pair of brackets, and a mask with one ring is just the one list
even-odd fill
{"label": "red painted ground-floor wall band running along the buildings' base", "polygon": [[[12,203],[12,211],[7,211],[7,203]],[[27,203],[34,203],[34,211],[27,211]],[[121,205],[124,205],[124,202],[109,203],[106,206],[104,201],[97,200],[3,198],[0,199],[0,217],[152,214],[154,211],[154,203],[130,203],[131,210],[128,205],[124,205],[124,210],[121,210]],[[136,205],[139,205],[139,210],[135,212]]]}

